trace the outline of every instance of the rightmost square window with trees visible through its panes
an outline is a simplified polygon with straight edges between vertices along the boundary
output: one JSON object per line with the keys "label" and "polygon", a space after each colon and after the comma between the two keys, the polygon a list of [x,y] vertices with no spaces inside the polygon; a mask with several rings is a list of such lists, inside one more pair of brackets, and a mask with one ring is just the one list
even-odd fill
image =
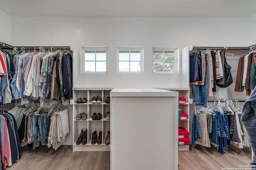
{"label": "rightmost square window with trees visible through its panes", "polygon": [[176,73],[177,49],[153,48],[153,72]]}

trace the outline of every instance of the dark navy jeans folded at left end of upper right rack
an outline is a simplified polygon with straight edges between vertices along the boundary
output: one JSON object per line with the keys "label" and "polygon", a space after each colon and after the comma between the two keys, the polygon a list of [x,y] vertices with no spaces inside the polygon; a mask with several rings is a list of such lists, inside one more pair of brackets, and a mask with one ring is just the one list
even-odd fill
{"label": "dark navy jeans folded at left end of upper right rack", "polygon": [[201,51],[190,55],[190,82],[202,81]]}

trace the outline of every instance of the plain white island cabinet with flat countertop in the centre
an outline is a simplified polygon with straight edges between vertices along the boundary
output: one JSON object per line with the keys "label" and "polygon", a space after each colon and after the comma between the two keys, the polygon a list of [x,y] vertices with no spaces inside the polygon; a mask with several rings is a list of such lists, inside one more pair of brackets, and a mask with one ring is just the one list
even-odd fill
{"label": "plain white island cabinet with flat countertop in the centre", "polygon": [[110,91],[111,170],[178,170],[178,92]]}

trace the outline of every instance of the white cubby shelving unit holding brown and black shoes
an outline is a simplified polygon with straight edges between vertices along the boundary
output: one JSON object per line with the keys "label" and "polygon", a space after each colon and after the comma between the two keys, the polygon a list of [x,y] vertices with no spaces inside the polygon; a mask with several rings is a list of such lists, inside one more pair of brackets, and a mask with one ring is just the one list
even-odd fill
{"label": "white cubby shelving unit holding brown and black shoes", "polygon": [[[110,131],[110,119],[106,119],[104,114],[110,111],[110,104],[105,102],[107,96],[110,96],[112,88],[73,88],[73,151],[110,151],[108,145],[105,144],[105,139],[108,131]],[[92,104],[92,97],[100,96],[102,98],[101,104]],[[87,103],[77,104],[78,98],[86,98]],[[79,113],[87,113],[88,118],[86,120],[76,120],[76,115]],[[101,120],[92,120],[93,113],[101,113]],[[87,129],[87,144],[76,145],[82,129]],[[92,145],[92,133],[102,131],[102,144],[97,143]]]}

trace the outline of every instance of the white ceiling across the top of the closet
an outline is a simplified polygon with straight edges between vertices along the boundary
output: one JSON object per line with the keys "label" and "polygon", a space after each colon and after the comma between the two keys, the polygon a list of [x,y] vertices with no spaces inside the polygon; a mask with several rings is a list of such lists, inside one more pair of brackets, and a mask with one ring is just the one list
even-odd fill
{"label": "white ceiling across the top of the closet", "polygon": [[10,16],[248,17],[256,0],[0,0]]}

